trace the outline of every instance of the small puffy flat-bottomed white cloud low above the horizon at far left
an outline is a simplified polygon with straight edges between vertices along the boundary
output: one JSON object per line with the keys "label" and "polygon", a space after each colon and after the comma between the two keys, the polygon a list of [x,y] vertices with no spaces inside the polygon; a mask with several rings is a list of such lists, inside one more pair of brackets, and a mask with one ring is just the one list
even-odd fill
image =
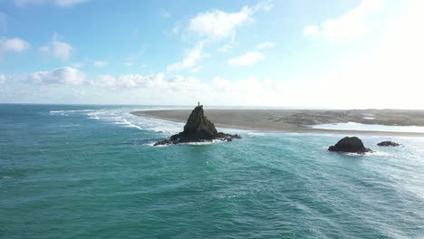
{"label": "small puffy flat-bottomed white cloud low above the horizon at far left", "polygon": [[62,67],[50,72],[34,72],[29,81],[38,84],[82,85],[85,82],[85,73],[72,67]]}

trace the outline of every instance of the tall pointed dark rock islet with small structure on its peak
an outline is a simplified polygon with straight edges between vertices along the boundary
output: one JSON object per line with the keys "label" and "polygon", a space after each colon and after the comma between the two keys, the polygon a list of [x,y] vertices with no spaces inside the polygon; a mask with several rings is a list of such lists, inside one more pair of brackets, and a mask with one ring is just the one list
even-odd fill
{"label": "tall pointed dark rock islet with small structure on its peak", "polygon": [[203,106],[200,105],[191,112],[184,126],[184,131],[171,136],[170,139],[159,141],[154,144],[154,146],[189,142],[207,142],[213,139],[232,141],[233,139],[241,139],[241,137],[239,135],[229,135],[218,132],[214,123],[207,119],[203,111]]}

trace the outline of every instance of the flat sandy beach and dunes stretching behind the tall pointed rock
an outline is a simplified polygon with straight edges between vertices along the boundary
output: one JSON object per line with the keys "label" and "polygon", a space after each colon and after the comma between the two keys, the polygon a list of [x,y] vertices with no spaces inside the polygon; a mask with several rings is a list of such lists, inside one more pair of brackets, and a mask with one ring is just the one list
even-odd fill
{"label": "flat sandy beach and dunes stretching behind the tall pointed rock", "polygon": [[[133,115],[186,122],[191,110],[143,110]],[[207,109],[217,127],[265,131],[330,133],[344,135],[415,136],[424,133],[312,129],[305,125],[357,122],[397,126],[424,126],[424,110],[230,110]]]}

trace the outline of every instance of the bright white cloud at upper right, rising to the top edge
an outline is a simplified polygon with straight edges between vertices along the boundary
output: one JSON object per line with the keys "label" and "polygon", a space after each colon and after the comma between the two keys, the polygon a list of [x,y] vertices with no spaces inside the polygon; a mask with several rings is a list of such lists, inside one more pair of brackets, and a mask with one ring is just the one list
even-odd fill
{"label": "bright white cloud at upper right, rising to the top edge", "polygon": [[338,38],[359,38],[371,31],[371,16],[383,8],[383,0],[362,0],[361,4],[339,18],[330,18],[318,25],[304,27],[304,36],[326,35]]}

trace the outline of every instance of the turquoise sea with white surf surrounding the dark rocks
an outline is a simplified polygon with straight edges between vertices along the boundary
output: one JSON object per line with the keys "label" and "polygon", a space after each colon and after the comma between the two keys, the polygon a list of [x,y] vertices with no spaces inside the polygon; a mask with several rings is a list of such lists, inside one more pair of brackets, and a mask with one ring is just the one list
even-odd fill
{"label": "turquoise sea with white surf surrounding the dark rocks", "polygon": [[[151,107],[0,105],[0,238],[423,238],[424,139],[226,129],[152,147],[182,124]],[[206,110],[207,113],[207,110]],[[401,148],[378,148],[381,140]]]}

